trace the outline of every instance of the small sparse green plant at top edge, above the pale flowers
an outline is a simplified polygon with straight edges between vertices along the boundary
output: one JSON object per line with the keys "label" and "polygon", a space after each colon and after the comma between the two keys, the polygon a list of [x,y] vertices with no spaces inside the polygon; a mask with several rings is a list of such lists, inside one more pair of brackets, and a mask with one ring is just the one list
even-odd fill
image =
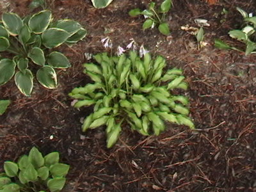
{"label": "small sparse green plant at top edge, above the pale flowers", "polygon": [[143,30],[148,28],[154,28],[155,26],[157,26],[160,33],[162,33],[163,35],[169,35],[169,24],[165,21],[165,17],[166,13],[168,13],[172,6],[172,0],[164,0],[163,3],[161,3],[161,6],[159,6],[159,8],[156,8],[156,3],[151,2],[148,5],[147,10],[141,11],[139,8],[136,8],[134,10],[131,10],[129,12],[129,15],[131,17],[144,15],[145,19],[147,20],[145,20],[145,22],[143,23]]}

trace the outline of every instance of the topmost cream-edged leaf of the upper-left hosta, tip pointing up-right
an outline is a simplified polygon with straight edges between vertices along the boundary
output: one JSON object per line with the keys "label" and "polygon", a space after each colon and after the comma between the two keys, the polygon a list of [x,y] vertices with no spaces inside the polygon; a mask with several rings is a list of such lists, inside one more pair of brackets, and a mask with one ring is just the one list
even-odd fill
{"label": "topmost cream-edged leaf of the upper-left hosta, tip pointing up-right", "polygon": [[49,10],[33,15],[28,22],[28,26],[36,34],[43,33],[49,26],[52,19],[52,13]]}

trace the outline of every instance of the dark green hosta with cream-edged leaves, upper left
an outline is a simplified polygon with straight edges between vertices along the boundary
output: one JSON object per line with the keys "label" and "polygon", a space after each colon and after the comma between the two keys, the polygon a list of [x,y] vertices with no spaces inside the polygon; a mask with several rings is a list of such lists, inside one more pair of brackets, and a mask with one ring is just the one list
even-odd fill
{"label": "dark green hosta with cream-edged leaves, upper left", "polygon": [[[0,51],[10,52],[12,59],[0,60],[0,86],[15,75],[15,83],[24,95],[31,95],[33,73],[45,88],[57,86],[56,68],[68,68],[67,57],[52,48],[72,45],[86,36],[86,30],[74,20],[52,22],[49,10],[20,19],[15,13],[3,13],[0,23]],[[34,65],[35,64],[35,65]]]}

